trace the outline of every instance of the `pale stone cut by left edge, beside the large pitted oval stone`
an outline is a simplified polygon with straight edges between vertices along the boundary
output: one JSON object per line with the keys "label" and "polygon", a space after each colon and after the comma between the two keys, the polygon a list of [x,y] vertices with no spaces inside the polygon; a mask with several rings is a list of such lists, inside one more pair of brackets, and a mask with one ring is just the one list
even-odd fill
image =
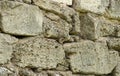
{"label": "pale stone cut by left edge, beside the large pitted oval stone", "polygon": [[12,44],[18,40],[10,35],[0,33],[0,64],[5,64],[11,59]]}

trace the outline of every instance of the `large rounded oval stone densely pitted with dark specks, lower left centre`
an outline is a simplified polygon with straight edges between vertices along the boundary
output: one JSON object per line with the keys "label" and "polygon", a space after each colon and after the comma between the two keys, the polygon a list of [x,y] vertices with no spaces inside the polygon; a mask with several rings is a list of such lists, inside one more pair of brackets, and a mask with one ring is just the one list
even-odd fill
{"label": "large rounded oval stone densely pitted with dark specks, lower left centre", "polygon": [[16,44],[13,62],[20,67],[54,69],[64,57],[62,46],[55,40],[33,37]]}

